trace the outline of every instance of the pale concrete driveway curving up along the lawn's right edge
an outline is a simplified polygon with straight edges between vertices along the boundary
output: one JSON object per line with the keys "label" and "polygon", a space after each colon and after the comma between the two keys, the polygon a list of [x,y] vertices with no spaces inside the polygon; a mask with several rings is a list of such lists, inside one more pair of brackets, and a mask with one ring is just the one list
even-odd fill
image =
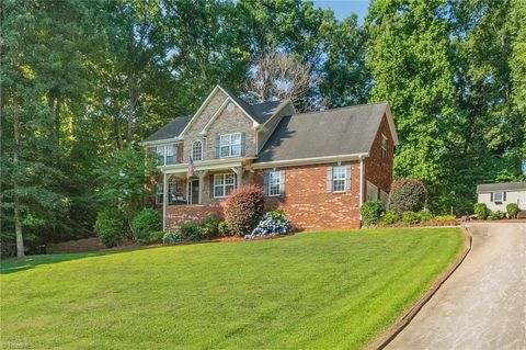
{"label": "pale concrete driveway curving up along the lawn's right edge", "polygon": [[526,349],[526,223],[467,227],[466,260],[387,349]]}

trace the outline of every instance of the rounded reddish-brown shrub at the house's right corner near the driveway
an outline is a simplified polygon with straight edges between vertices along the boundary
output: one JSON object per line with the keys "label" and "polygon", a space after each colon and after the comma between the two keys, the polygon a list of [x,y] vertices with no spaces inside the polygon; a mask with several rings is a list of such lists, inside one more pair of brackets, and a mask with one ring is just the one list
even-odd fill
{"label": "rounded reddish-brown shrub at the house's right corner near the driveway", "polygon": [[419,212],[427,204],[427,190],[421,180],[399,179],[392,182],[389,201],[390,208],[397,215],[403,212]]}

